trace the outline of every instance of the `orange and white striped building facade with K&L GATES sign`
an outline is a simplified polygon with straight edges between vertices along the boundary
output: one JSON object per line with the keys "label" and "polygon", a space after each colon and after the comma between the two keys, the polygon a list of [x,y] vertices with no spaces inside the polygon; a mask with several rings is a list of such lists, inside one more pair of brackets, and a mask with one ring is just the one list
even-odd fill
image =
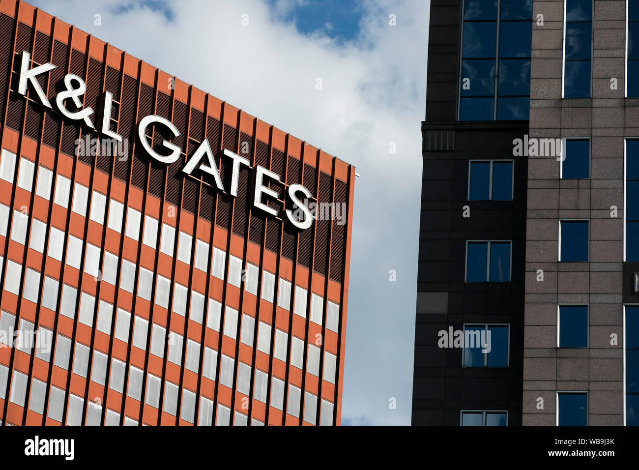
{"label": "orange and white striped building facade with K&L GATES sign", "polygon": [[3,425],[339,425],[353,166],[29,4],[0,31]]}

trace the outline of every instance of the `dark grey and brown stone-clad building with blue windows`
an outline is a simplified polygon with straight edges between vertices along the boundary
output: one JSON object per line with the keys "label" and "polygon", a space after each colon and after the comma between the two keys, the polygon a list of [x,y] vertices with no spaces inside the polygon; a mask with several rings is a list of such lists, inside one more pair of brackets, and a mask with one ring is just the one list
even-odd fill
{"label": "dark grey and brown stone-clad building with blue windows", "polygon": [[431,1],[413,425],[639,424],[638,43],[636,0]]}

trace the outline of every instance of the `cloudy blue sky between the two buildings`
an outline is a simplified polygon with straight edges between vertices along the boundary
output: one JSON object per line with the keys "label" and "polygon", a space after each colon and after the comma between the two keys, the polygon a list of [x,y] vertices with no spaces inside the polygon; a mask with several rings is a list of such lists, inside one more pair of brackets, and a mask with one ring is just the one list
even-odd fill
{"label": "cloudy blue sky between the two buildings", "polygon": [[429,0],[29,3],[355,165],[342,425],[410,425]]}

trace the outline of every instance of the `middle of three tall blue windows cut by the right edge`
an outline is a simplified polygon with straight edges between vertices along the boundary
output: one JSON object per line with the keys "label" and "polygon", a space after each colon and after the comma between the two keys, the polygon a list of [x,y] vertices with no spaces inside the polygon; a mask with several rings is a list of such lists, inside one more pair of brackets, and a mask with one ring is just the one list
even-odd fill
{"label": "middle of three tall blue windows cut by the right edge", "polygon": [[639,261],[639,139],[626,139],[624,261]]}

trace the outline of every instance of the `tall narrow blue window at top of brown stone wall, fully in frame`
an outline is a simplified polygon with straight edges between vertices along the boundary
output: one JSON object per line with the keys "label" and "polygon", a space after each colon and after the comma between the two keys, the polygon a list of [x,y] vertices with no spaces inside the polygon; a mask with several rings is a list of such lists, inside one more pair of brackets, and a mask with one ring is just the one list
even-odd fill
{"label": "tall narrow blue window at top of brown stone wall, fully in frame", "polygon": [[590,98],[592,0],[565,0],[562,98]]}

